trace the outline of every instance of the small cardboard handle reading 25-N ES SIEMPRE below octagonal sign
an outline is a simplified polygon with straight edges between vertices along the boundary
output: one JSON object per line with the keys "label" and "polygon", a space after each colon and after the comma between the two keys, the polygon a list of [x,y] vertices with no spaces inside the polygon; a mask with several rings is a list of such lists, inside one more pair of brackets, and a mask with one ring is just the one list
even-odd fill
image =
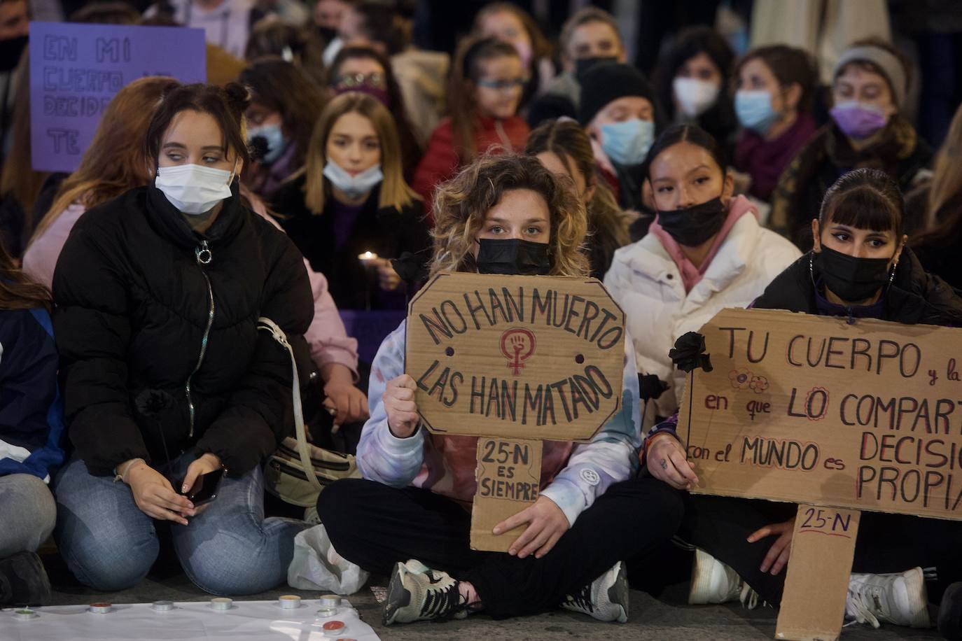
{"label": "small cardboard handle reading 25-N ES SIEMPRE below octagonal sign", "polygon": [[526,526],[492,533],[494,526],[514,516],[523,504],[533,504],[541,491],[542,442],[478,439],[478,482],[471,508],[471,549],[507,552]]}

